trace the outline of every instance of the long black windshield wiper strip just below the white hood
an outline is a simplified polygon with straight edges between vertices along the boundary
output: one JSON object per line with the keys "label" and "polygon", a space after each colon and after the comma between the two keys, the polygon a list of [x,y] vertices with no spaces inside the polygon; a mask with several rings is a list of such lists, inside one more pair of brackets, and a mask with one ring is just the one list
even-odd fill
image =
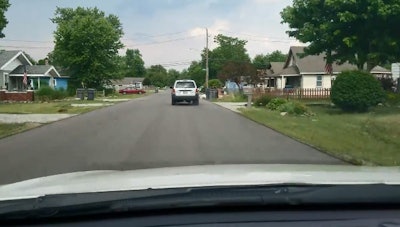
{"label": "long black windshield wiper strip just below the white hood", "polygon": [[0,202],[0,218],[41,218],[224,206],[400,204],[399,186],[278,185],[48,195]]}

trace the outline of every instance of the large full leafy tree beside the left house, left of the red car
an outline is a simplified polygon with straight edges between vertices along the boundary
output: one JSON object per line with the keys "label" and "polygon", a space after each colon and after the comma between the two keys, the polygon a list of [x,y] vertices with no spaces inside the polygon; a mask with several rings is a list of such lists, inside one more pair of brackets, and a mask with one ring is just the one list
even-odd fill
{"label": "large full leafy tree beside the left house, left of the red car", "polygon": [[66,69],[73,87],[100,88],[118,78],[118,50],[123,35],[118,17],[97,8],[57,8],[52,60]]}

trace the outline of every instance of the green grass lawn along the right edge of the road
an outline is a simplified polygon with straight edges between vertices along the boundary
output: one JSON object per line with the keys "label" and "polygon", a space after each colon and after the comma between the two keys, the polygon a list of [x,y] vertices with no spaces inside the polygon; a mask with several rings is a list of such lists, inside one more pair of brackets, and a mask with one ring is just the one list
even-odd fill
{"label": "green grass lawn along the right edge of the road", "polygon": [[378,106],[368,113],[343,113],[310,106],[315,116],[281,116],[265,108],[241,109],[244,116],[326,153],[358,165],[400,164],[400,108]]}

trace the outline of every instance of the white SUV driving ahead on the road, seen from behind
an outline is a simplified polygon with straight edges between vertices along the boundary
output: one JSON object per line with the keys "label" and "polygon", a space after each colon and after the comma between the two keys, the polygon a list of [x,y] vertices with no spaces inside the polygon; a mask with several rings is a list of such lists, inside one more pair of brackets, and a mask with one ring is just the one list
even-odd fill
{"label": "white SUV driving ahead on the road, seen from behind", "polygon": [[199,105],[199,89],[194,80],[176,80],[171,89],[172,105],[181,101]]}

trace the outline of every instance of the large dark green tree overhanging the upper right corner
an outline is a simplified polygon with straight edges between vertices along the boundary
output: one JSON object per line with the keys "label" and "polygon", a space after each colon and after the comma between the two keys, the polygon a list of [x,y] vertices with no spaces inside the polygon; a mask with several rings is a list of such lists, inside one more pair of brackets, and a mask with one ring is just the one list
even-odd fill
{"label": "large dark green tree overhanging the upper right corner", "polygon": [[305,55],[371,70],[400,57],[398,0],[294,0],[281,12],[289,36],[309,43]]}

